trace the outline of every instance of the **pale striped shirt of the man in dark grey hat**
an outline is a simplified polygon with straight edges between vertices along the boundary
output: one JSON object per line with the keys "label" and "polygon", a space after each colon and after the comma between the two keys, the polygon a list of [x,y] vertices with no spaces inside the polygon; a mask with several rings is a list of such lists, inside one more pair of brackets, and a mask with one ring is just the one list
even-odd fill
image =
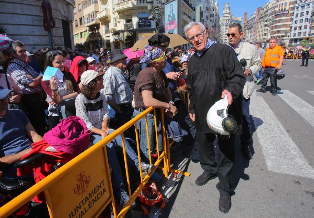
{"label": "pale striped shirt of the man in dark grey hat", "polygon": [[104,75],[105,88],[100,90],[106,96],[107,101],[114,100],[116,104],[131,103],[133,100],[132,90],[127,83],[123,71],[115,66],[108,68]]}

